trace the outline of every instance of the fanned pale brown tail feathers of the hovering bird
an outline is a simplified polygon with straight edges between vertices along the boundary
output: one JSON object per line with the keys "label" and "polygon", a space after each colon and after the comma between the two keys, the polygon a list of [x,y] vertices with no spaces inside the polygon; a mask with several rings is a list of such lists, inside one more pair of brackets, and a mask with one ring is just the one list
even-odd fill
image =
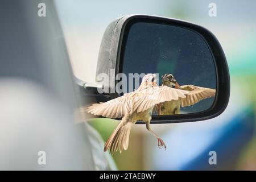
{"label": "fanned pale brown tail feathers of the hovering bird", "polygon": [[110,135],[109,139],[106,140],[104,151],[109,149],[110,154],[113,154],[118,149],[120,153],[122,153],[122,150],[127,150],[132,125],[132,122],[121,121],[114,132]]}

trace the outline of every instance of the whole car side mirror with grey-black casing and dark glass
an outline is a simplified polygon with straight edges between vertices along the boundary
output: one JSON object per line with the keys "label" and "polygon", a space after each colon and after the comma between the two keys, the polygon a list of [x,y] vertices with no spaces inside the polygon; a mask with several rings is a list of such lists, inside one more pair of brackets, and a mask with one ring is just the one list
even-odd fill
{"label": "whole car side mirror with grey-black casing and dark glass", "polygon": [[151,15],[126,15],[110,23],[98,55],[98,94],[110,100],[133,92],[147,73],[158,75],[158,85],[193,93],[156,106],[151,123],[210,119],[228,105],[228,64],[220,43],[204,27]]}

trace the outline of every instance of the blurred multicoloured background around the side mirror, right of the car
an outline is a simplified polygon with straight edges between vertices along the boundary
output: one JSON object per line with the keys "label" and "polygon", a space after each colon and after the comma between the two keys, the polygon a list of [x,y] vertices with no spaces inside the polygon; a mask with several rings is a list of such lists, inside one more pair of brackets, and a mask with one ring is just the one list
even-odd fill
{"label": "blurred multicoloured background around the side mirror, right of the car", "polygon": [[[167,150],[159,150],[146,126],[135,125],[129,149],[114,154],[119,169],[256,169],[255,82],[256,1],[82,1],[56,0],[75,75],[94,82],[98,49],[106,26],[126,14],[151,14],[187,20],[208,28],[228,60],[231,96],[222,115],[208,121],[153,125]],[[216,3],[217,16],[208,15]],[[90,119],[106,140],[112,119]],[[217,152],[217,165],[208,152]]]}

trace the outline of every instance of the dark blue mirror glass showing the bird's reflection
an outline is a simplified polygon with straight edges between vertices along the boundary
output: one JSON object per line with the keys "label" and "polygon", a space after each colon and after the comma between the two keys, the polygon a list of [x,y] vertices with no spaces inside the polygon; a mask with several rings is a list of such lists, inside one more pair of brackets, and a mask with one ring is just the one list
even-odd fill
{"label": "dark blue mirror glass showing the bird's reflection", "polygon": [[212,106],[216,68],[208,44],[197,32],[164,23],[134,22],[125,32],[122,52],[119,69],[128,79],[127,90],[123,92],[138,88],[129,73],[156,73],[159,86],[164,84],[189,92],[200,89],[187,101],[164,103],[154,109],[153,115],[197,113]]}

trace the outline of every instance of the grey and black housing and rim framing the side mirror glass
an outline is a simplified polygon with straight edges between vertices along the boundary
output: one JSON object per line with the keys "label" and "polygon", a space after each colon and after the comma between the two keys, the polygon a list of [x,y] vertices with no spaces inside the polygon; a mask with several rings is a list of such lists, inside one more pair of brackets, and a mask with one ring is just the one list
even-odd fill
{"label": "grey and black housing and rim framing the side mirror glass", "polygon": [[[198,26],[193,23],[185,22],[177,19],[163,18],[151,15],[126,15],[122,18],[114,20],[106,28],[102,38],[100,52],[98,55],[96,81],[100,84],[101,80],[97,79],[100,73],[109,75],[108,90],[109,99],[119,97],[120,94],[111,93],[110,90],[115,90],[117,80],[115,75],[122,72],[122,57],[125,52],[125,40],[129,32],[131,24],[135,22],[154,22],[162,24],[170,24],[172,26],[187,28],[199,34],[208,44],[208,48],[212,53],[214,65],[216,69],[216,98],[213,105],[199,113],[191,114],[177,114],[177,115],[152,115],[151,123],[177,123],[177,122],[191,122],[210,119],[220,115],[228,105],[230,94],[230,81],[228,64],[217,38],[206,28]],[[111,73],[114,71],[114,73]],[[137,122],[144,123],[144,122]]]}

